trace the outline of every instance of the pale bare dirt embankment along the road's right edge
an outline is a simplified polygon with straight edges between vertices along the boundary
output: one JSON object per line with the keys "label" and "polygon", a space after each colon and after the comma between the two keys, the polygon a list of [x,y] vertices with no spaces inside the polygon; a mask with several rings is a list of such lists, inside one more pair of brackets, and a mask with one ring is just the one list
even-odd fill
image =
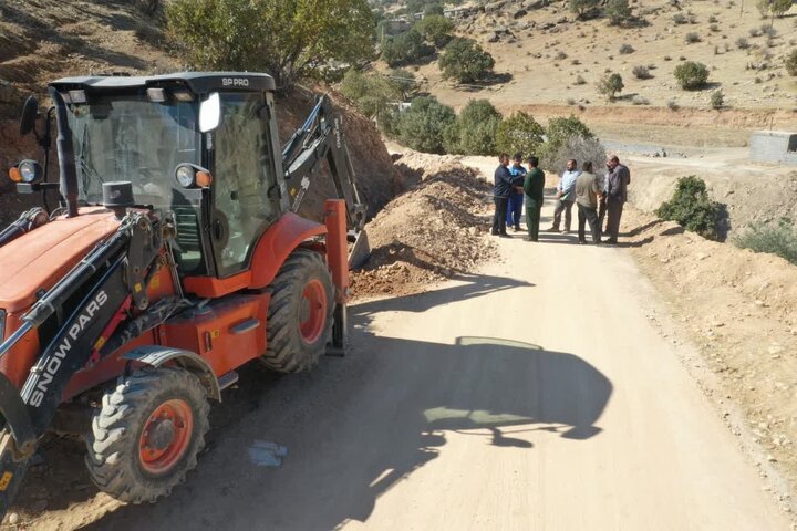
{"label": "pale bare dirt embankment along the road's right edge", "polygon": [[[797,487],[797,267],[773,254],[708,241],[634,208],[623,214],[632,253],[735,403],[766,456]],[[741,435],[729,413],[723,414]]]}

